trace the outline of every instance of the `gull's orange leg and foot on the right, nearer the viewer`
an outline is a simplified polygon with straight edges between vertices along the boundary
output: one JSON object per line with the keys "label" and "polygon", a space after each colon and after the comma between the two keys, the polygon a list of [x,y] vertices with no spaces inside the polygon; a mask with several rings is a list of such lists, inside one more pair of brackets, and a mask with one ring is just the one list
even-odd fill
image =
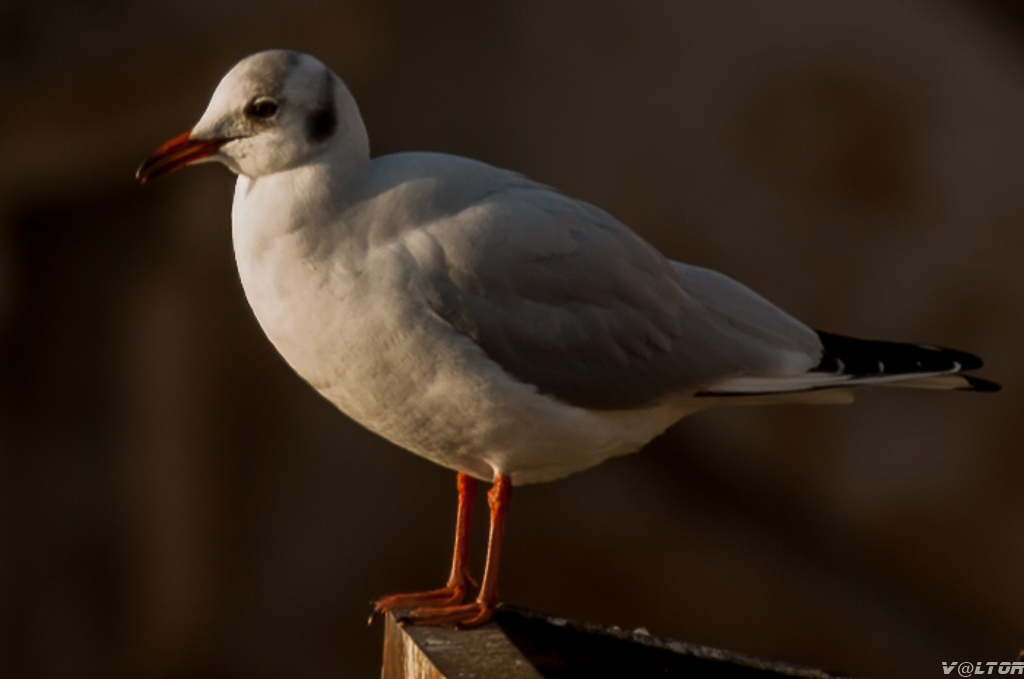
{"label": "gull's orange leg and foot on the right, nearer the viewer", "polygon": [[404,623],[465,629],[479,627],[495,617],[498,609],[498,563],[502,556],[505,517],[511,501],[512,479],[506,474],[498,474],[487,494],[487,504],[490,505],[490,538],[487,541],[487,565],[483,570],[483,585],[476,601],[464,605],[411,610],[403,618]]}

